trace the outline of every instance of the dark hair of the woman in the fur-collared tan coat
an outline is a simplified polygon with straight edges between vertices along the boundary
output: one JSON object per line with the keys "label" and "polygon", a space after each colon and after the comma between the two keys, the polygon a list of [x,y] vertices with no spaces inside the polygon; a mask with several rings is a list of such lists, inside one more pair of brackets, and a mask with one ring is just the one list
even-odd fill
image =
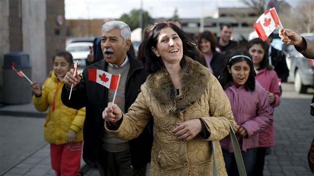
{"label": "dark hair of the woman in the fur-collared tan coat", "polygon": [[185,64],[184,56],[194,59],[196,41],[190,38],[176,25],[167,22],[155,23],[146,29],[144,39],[138,47],[138,58],[141,60],[149,73],[156,72],[164,67],[161,57],[157,57],[152,51],[152,47],[157,46],[158,36],[164,28],[173,29],[182,40],[183,57],[180,61],[181,67]]}

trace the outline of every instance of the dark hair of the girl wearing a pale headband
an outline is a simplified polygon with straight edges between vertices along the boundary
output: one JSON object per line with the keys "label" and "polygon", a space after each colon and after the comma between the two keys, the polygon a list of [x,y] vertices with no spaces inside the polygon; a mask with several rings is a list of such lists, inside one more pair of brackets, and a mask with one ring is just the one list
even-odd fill
{"label": "dark hair of the girl wearing a pale headband", "polygon": [[[249,58],[251,58],[251,60],[249,60],[246,57],[236,57],[236,58],[230,60],[230,58],[232,58],[233,56],[237,56],[237,55],[248,56]],[[220,77],[218,78],[218,80],[219,80],[220,84],[222,85],[222,87],[224,89],[226,89],[226,88],[228,88],[228,87],[230,87],[232,85],[232,74],[229,73],[228,66],[229,66],[229,69],[231,70],[231,67],[235,63],[238,63],[238,62],[241,62],[241,61],[245,61],[249,65],[249,67],[250,67],[249,77],[248,77],[247,81],[244,83],[245,90],[247,90],[247,91],[254,91],[255,90],[255,76],[256,76],[256,73],[255,73],[255,70],[254,70],[252,57],[249,54],[249,52],[245,48],[232,50],[230,52],[230,55],[226,56],[225,61],[226,61],[225,67],[222,70],[222,73],[221,73]]]}

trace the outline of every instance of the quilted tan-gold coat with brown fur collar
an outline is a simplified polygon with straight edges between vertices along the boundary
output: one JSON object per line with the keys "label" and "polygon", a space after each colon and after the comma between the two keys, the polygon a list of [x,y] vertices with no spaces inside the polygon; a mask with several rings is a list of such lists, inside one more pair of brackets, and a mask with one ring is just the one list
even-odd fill
{"label": "quilted tan-gold coat with brown fur collar", "polygon": [[[151,176],[211,176],[213,155],[209,141],[216,141],[218,174],[226,176],[219,141],[229,134],[229,122],[222,116],[235,125],[229,100],[210,70],[188,57],[179,79],[181,85],[176,95],[166,69],[150,74],[118,130],[109,131],[121,139],[131,140],[153,117]],[[172,134],[177,122],[196,118],[204,120],[211,133],[208,139],[196,136],[183,142]]]}

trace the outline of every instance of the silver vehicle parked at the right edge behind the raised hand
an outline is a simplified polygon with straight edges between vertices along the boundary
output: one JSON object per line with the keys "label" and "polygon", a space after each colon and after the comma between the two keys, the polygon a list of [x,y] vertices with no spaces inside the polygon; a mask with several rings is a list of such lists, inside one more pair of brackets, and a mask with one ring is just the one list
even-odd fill
{"label": "silver vehicle parked at the right edge behind the raised hand", "polygon": [[[314,41],[314,33],[301,35]],[[296,92],[306,93],[309,87],[314,87],[314,58],[305,58],[293,45],[283,45],[283,52],[286,54],[288,68],[290,66],[288,81],[294,82]]]}

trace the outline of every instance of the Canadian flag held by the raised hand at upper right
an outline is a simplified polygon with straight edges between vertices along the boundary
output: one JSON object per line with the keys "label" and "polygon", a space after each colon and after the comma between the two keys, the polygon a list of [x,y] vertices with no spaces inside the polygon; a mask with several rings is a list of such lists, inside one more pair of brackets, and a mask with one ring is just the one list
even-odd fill
{"label": "Canadian flag held by the raised hand at upper right", "polygon": [[274,7],[268,9],[260,18],[255,22],[254,29],[259,37],[265,41],[267,37],[279,25],[279,17]]}

